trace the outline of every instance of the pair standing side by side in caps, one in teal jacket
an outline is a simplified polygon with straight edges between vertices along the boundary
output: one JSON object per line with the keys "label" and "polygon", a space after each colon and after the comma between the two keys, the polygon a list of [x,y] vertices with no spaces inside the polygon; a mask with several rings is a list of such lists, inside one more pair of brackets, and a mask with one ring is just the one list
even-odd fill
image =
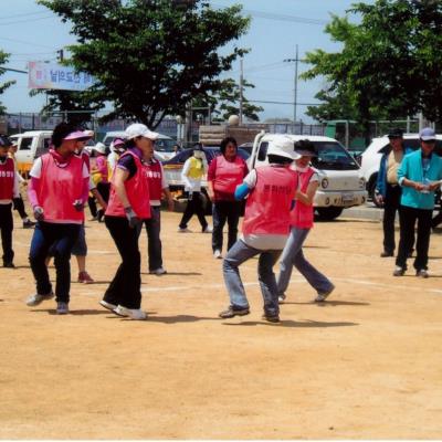
{"label": "pair standing side by side in caps, one in teal jacket", "polygon": [[435,131],[430,127],[420,131],[418,150],[407,146],[400,129],[390,130],[388,137],[390,144],[382,155],[376,187],[376,198],[385,208],[381,257],[394,255],[394,219],[398,212],[400,239],[393,275],[402,276],[406,273],[415,236],[415,275],[429,277],[428,254],[434,227],[434,192],[442,183],[442,158],[434,152]]}

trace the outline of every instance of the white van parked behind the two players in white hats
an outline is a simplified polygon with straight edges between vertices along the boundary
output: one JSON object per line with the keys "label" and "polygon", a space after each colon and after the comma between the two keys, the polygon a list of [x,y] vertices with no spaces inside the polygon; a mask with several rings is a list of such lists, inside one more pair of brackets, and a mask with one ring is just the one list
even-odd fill
{"label": "white van parked behind the two players in white hats", "polygon": [[344,209],[364,204],[367,201],[366,180],[354,157],[336,139],[322,136],[260,133],[253,143],[249,169],[267,164],[269,144],[276,137],[290,137],[293,143],[308,139],[315,145],[317,157],[312,166],[318,171],[319,187],[314,207],[319,219],[333,220]]}

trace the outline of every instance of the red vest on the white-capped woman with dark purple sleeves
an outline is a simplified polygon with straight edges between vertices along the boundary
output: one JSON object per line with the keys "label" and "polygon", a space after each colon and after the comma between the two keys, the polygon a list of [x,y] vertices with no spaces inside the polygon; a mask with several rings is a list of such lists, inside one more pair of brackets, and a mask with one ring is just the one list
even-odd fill
{"label": "red vest on the white-capped woman with dark purple sleeves", "polygon": [[[141,162],[138,156],[130,150],[124,152],[122,158],[125,155],[131,155],[135,160],[135,166],[137,167],[135,175],[125,181],[127,199],[137,217],[146,220],[150,218],[149,180],[147,178],[146,166]],[[115,173],[113,175],[110,183],[110,196],[106,214],[110,217],[125,218],[126,212],[124,211],[123,203],[115,191],[114,180]]]}

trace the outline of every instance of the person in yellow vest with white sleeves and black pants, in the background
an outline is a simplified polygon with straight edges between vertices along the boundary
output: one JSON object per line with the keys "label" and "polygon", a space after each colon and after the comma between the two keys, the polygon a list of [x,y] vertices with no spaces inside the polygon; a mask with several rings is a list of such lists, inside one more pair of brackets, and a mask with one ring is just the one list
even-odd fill
{"label": "person in yellow vest with white sleeves and black pants, in the background", "polygon": [[206,154],[200,143],[193,145],[193,155],[188,158],[182,167],[181,179],[185,182],[187,192],[187,206],[178,227],[178,232],[188,233],[188,222],[193,214],[197,214],[201,224],[202,233],[211,233],[212,228],[208,224],[204,217],[204,208],[201,196],[201,179],[208,171]]}

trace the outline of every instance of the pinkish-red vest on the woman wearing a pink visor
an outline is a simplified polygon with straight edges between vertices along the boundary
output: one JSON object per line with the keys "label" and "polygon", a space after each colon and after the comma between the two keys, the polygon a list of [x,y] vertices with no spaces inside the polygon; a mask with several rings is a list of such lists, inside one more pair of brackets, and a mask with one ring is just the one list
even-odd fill
{"label": "pinkish-red vest on the woman wearing a pink visor", "polygon": [[44,221],[84,221],[84,212],[73,202],[83,198],[84,160],[73,155],[65,167],[60,167],[51,154],[41,157],[42,169],[38,199],[44,210]]}

